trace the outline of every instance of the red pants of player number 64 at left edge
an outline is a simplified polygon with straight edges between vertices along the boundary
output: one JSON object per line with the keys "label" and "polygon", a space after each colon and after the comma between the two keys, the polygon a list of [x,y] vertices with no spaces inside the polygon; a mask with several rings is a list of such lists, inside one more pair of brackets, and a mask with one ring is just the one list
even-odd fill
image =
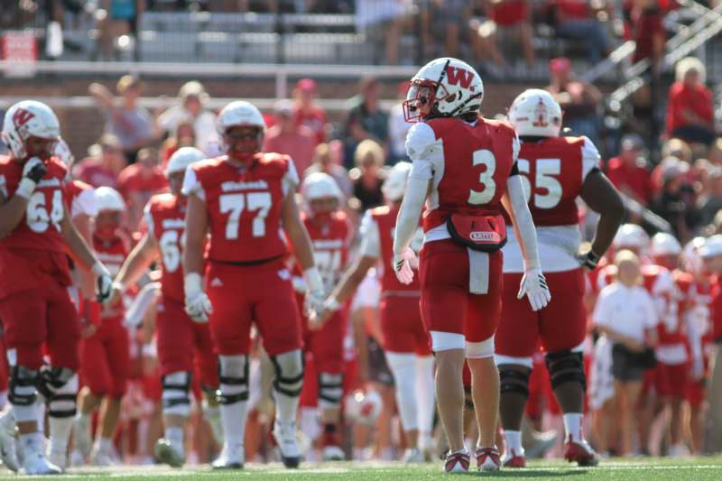
{"label": "red pants of player number 64 at left edge", "polygon": [[54,367],[78,371],[80,322],[68,288],[52,277],[42,287],[14,293],[0,301],[5,344],[14,364],[42,366],[42,346]]}

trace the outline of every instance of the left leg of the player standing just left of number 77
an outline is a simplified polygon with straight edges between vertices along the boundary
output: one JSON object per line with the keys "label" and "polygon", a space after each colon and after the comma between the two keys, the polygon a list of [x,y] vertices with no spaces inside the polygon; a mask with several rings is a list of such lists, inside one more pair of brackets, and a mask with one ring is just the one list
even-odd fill
{"label": "left leg of the player standing just left of number 77", "polygon": [[162,375],[163,438],[155,443],[159,461],[173,467],[185,462],[184,430],[190,414],[193,331],[183,305],[164,298],[156,318],[156,342]]}

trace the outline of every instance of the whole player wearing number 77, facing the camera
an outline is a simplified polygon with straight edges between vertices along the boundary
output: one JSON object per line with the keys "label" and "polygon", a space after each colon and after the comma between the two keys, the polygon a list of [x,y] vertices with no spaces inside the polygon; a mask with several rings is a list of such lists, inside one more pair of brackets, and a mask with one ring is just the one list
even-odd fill
{"label": "whole player wearing number 77, facing the camera", "polygon": [[298,173],[289,156],[262,152],[264,132],[264,118],[254,105],[231,102],[218,116],[225,154],[193,163],[183,181],[186,311],[191,319],[209,320],[219,355],[225,441],[216,467],[244,464],[252,322],[275,368],[273,439],[286,467],[301,461],[295,424],[303,384],[301,318],[285,264],[285,238],[303,271],[310,310],[321,310],[324,287],[294,199]]}

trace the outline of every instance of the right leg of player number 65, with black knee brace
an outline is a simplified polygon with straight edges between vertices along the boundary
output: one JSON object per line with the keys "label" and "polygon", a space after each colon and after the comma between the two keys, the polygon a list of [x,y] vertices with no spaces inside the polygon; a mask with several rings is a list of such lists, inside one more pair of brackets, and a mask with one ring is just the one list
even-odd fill
{"label": "right leg of player number 65, with black knee brace", "polygon": [[539,334],[546,351],[551,387],[563,413],[564,457],[579,466],[596,466],[597,454],[582,433],[584,394],[584,338],[587,310],[584,273],[581,269],[548,273],[551,302],[540,313]]}

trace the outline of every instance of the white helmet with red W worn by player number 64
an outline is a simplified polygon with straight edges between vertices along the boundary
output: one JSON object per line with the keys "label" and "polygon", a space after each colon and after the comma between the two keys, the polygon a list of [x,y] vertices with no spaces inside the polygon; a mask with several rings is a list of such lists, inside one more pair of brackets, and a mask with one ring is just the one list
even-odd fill
{"label": "white helmet with red W worn by player number 64", "polygon": [[3,122],[3,142],[18,159],[27,157],[29,137],[57,140],[60,122],[51,107],[37,100],[23,100],[7,109]]}

